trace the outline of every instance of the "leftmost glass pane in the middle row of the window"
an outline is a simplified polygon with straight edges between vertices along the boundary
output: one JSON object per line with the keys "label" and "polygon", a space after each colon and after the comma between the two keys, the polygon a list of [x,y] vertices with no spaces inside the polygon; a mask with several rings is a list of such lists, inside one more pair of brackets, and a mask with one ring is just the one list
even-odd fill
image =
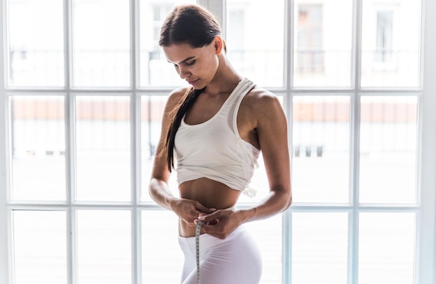
{"label": "leftmost glass pane in the middle row of the window", "polygon": [[63,96],[10,97],[13,199],[65,200]]}

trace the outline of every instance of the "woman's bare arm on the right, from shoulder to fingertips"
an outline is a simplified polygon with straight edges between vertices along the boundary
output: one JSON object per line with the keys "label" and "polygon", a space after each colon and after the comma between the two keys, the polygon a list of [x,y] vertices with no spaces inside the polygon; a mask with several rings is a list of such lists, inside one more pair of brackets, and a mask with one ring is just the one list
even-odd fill
{"label": "woman's bare arm on the right, from shoulder to fingertips", "polygon": [[[240,224],[266,219],[285,211],[290,206],[290,155],[288,148],[288,122],[278,98],[265,90],[253,90],[249,100],[250,109],[258,136],[260,150],[270,186],[267,196],[256,206],[244,210],[218,210],[199,217],[210,222],[204,231],[224,239]],[[218,223],[215,220],[219,220]]]}

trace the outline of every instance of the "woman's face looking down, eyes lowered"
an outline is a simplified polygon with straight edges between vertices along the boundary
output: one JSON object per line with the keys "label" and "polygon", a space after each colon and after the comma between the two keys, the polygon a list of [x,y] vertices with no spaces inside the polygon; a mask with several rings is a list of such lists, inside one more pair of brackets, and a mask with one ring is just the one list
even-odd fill
{"label": "woman's face looking down, eyes lowered", "polygon": [[219,63],[214,41],[203,47],[192,47],[183,43],[169,45],[163,49],[180,78],[195,89],[204,88],[215,77]]}

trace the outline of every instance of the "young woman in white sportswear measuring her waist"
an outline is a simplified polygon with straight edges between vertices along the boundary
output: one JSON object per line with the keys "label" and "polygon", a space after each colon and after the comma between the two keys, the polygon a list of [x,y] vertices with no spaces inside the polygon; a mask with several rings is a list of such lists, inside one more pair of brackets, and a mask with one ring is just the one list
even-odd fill
{"label": "young woman in white sportswear measuring her waist", "polygon": [[[180,219],[183,284],[197,283],[196,223],[203,283],[259,283],[262,261],[242,224],[278,214],[291,203],[286,116],[277,97],[232,68],[216,19],[196,5],[177,6],[159,45],[191,86],[174,90],[162,119],[150,196]],[[237,210],[263,155],[270,191],[256,206]],[[174,166],[176,164],[176,166]],[[168,182],[176,168],[180,197]]]}

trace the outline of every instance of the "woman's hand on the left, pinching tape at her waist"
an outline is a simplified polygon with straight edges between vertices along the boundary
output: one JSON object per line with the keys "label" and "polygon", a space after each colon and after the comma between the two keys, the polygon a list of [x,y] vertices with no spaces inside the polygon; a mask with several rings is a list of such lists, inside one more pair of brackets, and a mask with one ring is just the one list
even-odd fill
{"label": "woman's hand on the left, pinching tape at her waist", "polygon": [[214,208],[205,207],[198,201],[187,198],[176,198],[172,200],[170,207],[171,210],[179,216],[180,220],[187,223],[189,226],[196,225],[194,220],[198,219],[198,216],[216,211]]}

